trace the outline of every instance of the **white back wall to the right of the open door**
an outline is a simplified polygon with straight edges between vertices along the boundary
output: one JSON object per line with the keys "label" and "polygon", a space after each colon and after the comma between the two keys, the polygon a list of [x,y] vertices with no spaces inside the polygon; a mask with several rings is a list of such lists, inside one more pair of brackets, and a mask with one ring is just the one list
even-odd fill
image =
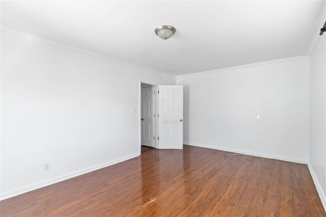
{"label": "white back wall to the right of the open door", "polygon": [[305,58],[180,76],[177,84],[184,86],[186,144],[308,162]]}

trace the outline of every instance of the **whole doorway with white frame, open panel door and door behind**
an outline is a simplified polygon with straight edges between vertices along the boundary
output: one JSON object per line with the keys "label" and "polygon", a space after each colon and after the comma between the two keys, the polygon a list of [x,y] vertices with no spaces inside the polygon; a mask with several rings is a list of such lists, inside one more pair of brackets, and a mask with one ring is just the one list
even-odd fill
{"label": "whole doorway with white frame, open panel door and door behind", "polygon": [[142,80],[139,84],[140,154],[142,145],[157,149],[182,149],[183,86],[159,85]]}

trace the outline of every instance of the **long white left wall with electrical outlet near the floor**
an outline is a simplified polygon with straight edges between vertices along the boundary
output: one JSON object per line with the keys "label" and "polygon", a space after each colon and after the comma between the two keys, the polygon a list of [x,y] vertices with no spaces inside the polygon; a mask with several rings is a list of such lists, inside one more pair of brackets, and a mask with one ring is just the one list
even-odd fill
{"label": "long white left wall with electrical outlet near the floor", "polygon": [[175,84],[10,29],[1,46],[1,199],[139,156],[140,79]]}

